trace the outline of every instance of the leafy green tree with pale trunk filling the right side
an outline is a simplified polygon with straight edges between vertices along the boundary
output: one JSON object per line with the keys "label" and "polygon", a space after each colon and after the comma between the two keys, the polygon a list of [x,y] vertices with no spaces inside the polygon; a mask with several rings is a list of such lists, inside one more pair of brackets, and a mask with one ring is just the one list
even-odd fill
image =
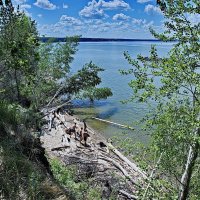
{"label": "leafy green tree with pale trunk filling the right side", "polygon": [[200,24],[191,19],[199,16],[200,2],[160,0],[157,4],[165,17],[165,31],[160,34],[151,29],[151,33],[165,42],[176,40],[176,44],[162,58],[155,46],[148,59],[138,55],[134,60],[126,52],[133,68],[122,73],[135,77],[129,83],[133,99],[156,102],[146,121],[152,130],[153,147],[162,153],[166,175],[174,185],[175,180],[179,182],[175,188],[178,198],[195,199],[200,196],[199,190],[192,188],[200,185]]}

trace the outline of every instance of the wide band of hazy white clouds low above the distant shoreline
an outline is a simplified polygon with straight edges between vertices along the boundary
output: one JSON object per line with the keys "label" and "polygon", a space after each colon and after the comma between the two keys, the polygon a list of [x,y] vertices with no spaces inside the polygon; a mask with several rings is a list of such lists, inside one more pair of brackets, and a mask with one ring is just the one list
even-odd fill
{"label": "wide band of hazy white clouds low above the distant shoreline", "polygon": [[77,19],[63,15],[56,24],[39,25],[39,31],[48,36],[82,35],[83,37],[151,38],[148,27],[153,21],[131,18],[128,21],[106,19]]}

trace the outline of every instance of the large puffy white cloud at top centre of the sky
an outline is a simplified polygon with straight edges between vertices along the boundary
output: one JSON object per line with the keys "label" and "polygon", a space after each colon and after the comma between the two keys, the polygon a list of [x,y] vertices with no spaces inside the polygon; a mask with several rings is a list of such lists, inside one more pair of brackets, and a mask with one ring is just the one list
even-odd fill
{"label": "large puffy white cloud at top centre of the sky", "polygon": [[85,18],[101,19],[107,17],[104,13],[105,10],[128,10],[130,5],[123,0],[104,1],[92,0],[85,6],[79,15]]}

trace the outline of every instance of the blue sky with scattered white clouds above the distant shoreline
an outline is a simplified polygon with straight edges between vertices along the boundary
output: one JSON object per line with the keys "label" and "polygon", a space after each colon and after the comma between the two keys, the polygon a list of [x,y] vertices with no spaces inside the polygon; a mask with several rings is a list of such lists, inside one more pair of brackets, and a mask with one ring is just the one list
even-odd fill
{"label": "blue sky with scattered white clouds above the distant shoreline", "polygon": [[65,37],[152,38],[162,30],[155,0],[13,0],[37,22],[40,35]]}

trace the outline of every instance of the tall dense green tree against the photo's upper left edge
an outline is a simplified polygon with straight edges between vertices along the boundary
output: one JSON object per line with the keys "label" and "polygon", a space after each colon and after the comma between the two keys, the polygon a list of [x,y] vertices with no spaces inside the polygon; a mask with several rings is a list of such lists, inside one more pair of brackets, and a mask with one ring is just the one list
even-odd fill
{"label": "tall dense green tree against the photo's upper left edge", "polygon": [[5,5],[1,3],[0,87],[4,88],[2,99],[22,105],[30,101],[25,93],[35,76],[38,44],[35,22],[21,13],[19,8],[15,12],[11,1],[5,1]]}

